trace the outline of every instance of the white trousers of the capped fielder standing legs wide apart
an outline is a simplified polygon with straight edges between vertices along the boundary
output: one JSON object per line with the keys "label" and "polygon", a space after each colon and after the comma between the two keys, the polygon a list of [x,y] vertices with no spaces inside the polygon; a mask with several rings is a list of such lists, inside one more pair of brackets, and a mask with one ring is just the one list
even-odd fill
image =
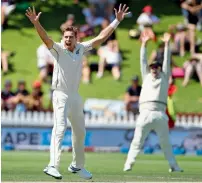
{"label": "white trousers of the capped fielder standing legs wide apart", "polygon": [[163,111],[143,110],[138,116],[134,138],[130,145],[126,164],[133,164],[149,132],[154,130],[159,136],[161,149],[170,166],[177,165],[169,141],[168,117]]}

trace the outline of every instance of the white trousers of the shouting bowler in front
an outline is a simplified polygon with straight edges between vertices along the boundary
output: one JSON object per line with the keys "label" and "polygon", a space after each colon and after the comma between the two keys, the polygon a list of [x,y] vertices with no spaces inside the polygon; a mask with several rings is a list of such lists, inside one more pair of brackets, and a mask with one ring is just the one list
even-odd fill
{"label": "white trousers of the shouting bowler in front", "polygon": [[67,123],[72,128],[72,165],[76,168],[84,167],[84,139],[85,122],[83,102],[78,93],[65,94],[62,91],[53,91],[54,126],[50,144],[49,166],[59,168],[61,145]]}

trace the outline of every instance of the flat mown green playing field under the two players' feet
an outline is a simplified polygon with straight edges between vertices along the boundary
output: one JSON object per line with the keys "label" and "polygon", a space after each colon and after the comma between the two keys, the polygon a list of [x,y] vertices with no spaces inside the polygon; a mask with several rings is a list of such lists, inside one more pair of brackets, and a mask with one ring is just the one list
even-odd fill
{"label": "flat mown green playing field under the two players' feet", "polygon": [[[85,181],[67,171],[71,158],[71,153],[63,152],[62,182]],[[93,174],[88,182],[202,182],[202,157],[199,156],[177,156],[183,173],[168,173],[163,155],[140,155],[133,170],[123,172],[125,158],[126,154],[119,153],[86,153],[86,168]],[[55,181],[42,172],[48,160],[49,152],[2,152],[2,181]]]}

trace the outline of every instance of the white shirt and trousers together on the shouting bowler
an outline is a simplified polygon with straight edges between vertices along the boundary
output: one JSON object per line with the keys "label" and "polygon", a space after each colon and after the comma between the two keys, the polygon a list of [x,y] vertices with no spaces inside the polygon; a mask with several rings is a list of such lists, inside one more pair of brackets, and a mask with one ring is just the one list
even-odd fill
{"label": "white shirt and trousers together on the shouting bowler", "polygon": [[50,52],[55,58],[53,71],[53,110],[54,127],[50,145],[49,166],[59,168],[61,144],[67,127],[72,128],[72,166],[84,167],[85,122],[83,103],[78,94],[81,78],[83,54],[92,49],[91,42],[77,43],[72,52],[64,48],[62,43],[54,43]]}

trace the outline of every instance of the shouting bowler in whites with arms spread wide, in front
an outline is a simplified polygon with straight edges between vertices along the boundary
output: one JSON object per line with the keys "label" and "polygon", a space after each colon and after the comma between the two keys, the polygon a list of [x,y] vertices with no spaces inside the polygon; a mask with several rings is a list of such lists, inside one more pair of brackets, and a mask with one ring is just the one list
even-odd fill
{"label": "shouting bowler in whites with arms spread wide, in front", "polygon": [[39,22],[41,12],[37,14],[34,7],[26,10],[26,16],[55,58],[52,82],[54,126],[50,145],[50,162],[44,169],[44,173],[56,179],[62,179],[59,173],[61,143],[68,122],[71,123],[72,128],[73,147],[73,161],[68,170],[77,173],[81,178],[92,178],[92,174],[84,168],[85,122],[83,103],[78,94],[82,57],[85,52],[101,45],[113,33],[124,17],[130,13],[127,12],[128,9],[126,5],[120,4],[118,10],[114,9],[116,19],[97,37],[82,43],[77,42],[77,29],[72,26],[64,30],[61,43],[55,43]]}

